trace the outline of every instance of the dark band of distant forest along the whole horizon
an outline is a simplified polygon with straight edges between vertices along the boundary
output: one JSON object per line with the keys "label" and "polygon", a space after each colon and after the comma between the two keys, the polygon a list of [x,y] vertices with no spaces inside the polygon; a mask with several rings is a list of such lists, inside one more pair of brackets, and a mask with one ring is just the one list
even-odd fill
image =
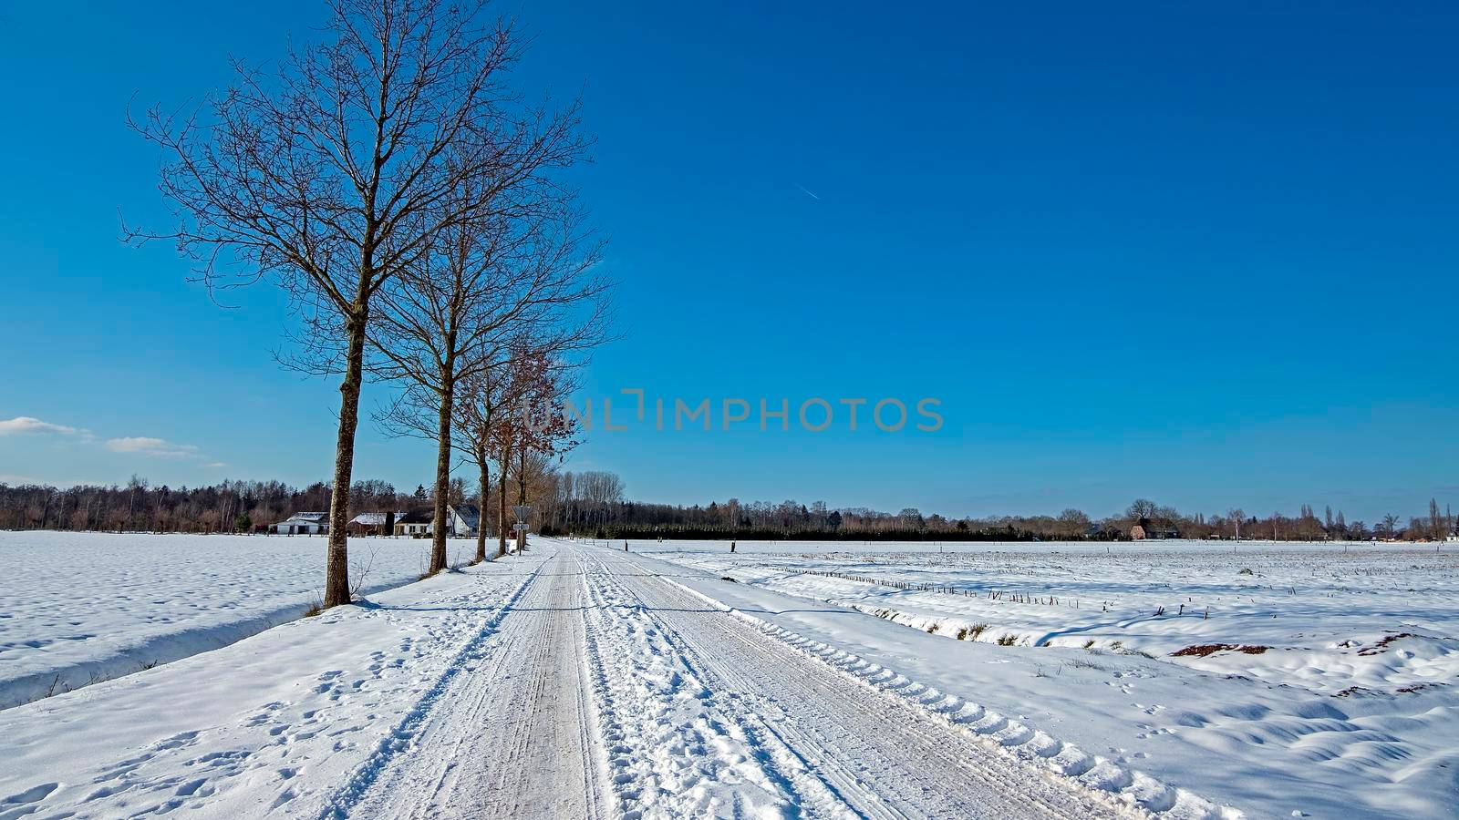
{"label": "dark band of distant forest along the whole horizon", "polygon": [[[512,476],[516,481],[516,476]],[[495,481],[493,481],[495,484]],[[598,538],[743,538],[743,540],[1128,540],[1141,521],[1147,528],[1186,538],[1271,540],[1444,540],[1456,521],[1437,499],[1427,515],[1401,519],[1385,515],[1374,522],[1347,521],[1342,511],[1319,515],[1304,505],[1297,515],[1249,515],[1240,509],[1188,514],[1137,499],[1119,515],[1091,518],[1078,509],[1056,515],[1001,515],[947,518],[913,508],[881,512],[868,508],[832,509],[824,502],[741,502],[668,505],[627,500],[623,480],[608,471],[559,473],[540,463],[528,476],[531,522],[546,535],[572,534]],[[480,503],[480,487],[455,479],[446,489],[449,503]],[[283,481],[222,481],[206,487],[153,486],[133,477],[124,486],[0,483],[0,528],[144,533],[258,533],[295,512],[330,509],[331,489],[322,481],[292,487]],[[515,503],[515,489],[508,493]],[[352,515],[430,506],[435,493],[425,484],[400,492],[388,481],[352,484]],[[496,487],[487,489],[483,518],[489,531],[496,517]],[[509,522],[508,522],[509,524]]]}

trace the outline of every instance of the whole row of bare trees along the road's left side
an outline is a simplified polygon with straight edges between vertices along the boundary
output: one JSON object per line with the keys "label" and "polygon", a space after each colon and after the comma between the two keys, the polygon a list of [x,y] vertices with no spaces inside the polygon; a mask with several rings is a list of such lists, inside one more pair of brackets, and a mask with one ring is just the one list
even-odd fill
{"label": "whole row of bare trees along the road's left side", "polygon": [[[524,38],[467,0],[333,0],[314,42],[233,60],[191,109],[130,121],[162,155],[172,242],[214,293],[268,282],[299,317],[282,360],[340,379],[324,606],[349,603],[347,522],[366,381],[395,385],[379,422],[436,444],[430,572],[446,565],[451,467],[477,465],[487,506],[506,474],[570,448],[550,407],[605,337],[601,241],[566,172],[589,159],[579,104],[514,88]],[[264,69],[261,66],[273,66]],[[527,502],[527,481],[516,487]],[[476,560],[486,559],[486,533]]]}

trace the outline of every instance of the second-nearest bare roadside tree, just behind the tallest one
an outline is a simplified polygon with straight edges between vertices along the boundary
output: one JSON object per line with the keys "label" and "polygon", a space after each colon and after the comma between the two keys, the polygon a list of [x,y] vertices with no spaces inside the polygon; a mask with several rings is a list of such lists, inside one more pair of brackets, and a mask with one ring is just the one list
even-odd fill
{"label": "second-nearest bare roadside tree, just behind the tallest one", "polygon": [[[604,324],[608,283],[592,273],[600,242],[579,228],[566,188],[540,172],[522,179],[486,203],[490,213],[442,231],[430,252],[384,287],[368,333],[378,352],[371,371],[419,388],[388,416],[409,430],[420,425],[400,419],[401,410],[435,422],[436,487],[451,477],[460,382],[499,365],[512,339],[537,334],[562,350],[594,339]],[[429,572],[445,569],[445,524],[446,499],[438,492]]]}

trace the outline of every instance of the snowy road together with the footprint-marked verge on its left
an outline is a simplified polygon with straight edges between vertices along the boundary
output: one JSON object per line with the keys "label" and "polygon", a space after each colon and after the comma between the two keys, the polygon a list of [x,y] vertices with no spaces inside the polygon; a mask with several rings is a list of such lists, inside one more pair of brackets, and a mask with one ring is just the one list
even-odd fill
{"label": "snowy road together with the footprint-marked verge on its left", "polygon": [[662,565],[534,544],[0,713],[0,819],[1125,811]]}

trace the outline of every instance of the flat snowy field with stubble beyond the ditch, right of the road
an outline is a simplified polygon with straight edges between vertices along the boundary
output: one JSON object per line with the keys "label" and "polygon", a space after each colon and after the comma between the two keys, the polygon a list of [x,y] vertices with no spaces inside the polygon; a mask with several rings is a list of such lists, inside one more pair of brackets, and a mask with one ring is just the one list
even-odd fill
{"label": "flat snowy field with stubble beyond the ditch, right of the road", "polygon": [[635,543],[986,643],[1145,652],[1323,695],[1459,676],[1459,552],[1369,544]]}

